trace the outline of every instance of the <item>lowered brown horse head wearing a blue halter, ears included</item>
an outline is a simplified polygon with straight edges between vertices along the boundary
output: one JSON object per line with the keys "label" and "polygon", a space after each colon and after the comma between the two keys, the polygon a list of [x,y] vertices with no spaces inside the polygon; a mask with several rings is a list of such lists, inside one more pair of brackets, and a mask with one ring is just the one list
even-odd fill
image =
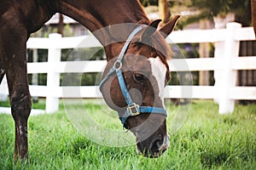
{"label": "lowered brown horse head wearing a blue halter, ears included", "polygon": [[134,133],[137,151],[144,156],[160,156],[169,146],[163,95],[170,79],[167,60],[171,58],[171,48],[165,38],[178,18],[160,30],[160,20],[137,27],[119,57],[109,60],[103,72],[103,98],[118,111],[124,127]]}

